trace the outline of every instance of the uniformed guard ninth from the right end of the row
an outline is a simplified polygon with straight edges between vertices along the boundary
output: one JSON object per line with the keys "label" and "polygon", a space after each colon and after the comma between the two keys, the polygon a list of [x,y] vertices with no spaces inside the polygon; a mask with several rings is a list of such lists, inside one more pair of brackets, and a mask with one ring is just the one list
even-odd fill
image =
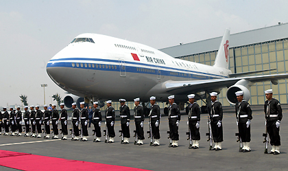
{"label": "uniformed guard ninth from the right end of the row", "polygon": [[107,109],[105,110],[105,119],[106,119],[106,123],[105,124],[106,124],[107,130],[108,130],[109,143],[114,143],[114,137],[115,137],[115,130],[114,130],[115,110],[111,106],[111,100],[108,100],[106,102],[106,104],[107,104]]}

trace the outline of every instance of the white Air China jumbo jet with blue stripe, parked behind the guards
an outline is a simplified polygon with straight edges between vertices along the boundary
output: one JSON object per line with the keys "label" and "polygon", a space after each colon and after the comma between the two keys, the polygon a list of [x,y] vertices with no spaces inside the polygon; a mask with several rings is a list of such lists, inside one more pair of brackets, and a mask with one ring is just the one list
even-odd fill
{"label": "white Air China jumbo jet with blue stripe, parked behind the guards", "polygon": [[243,91],[248,101],[249,88],[255,82],[270,80],[278,84],[278,80],[288,78],[288,73],[245,76],[272,69],[232,73],[228,69],[229,37],[230,30],[226,29],[214,65],[210,66],[173,58],[153,47],[120,38],[80,34],[49,60],[47,73],[72,94],[64,98],[67,107],[83,100],[98,100],[100,106],[105,100],[120,98],[149,102],[152,95],[158,102],[167,102],[169,95],[175,95],[176,102],[184,106],[188,94],[195,93],[195,100],[208,102],[210,92],[219,93],[224,87],[228,87],[228,102],[235,104],[236,91]]}

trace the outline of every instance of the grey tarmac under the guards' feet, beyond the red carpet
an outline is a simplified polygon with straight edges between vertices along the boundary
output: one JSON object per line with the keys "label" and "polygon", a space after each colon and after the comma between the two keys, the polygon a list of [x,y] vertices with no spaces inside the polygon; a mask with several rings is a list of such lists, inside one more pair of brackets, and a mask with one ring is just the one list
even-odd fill
{"label": "grey tarmac under the guards' feet, beyond the red carpet", "polygon": [[[280,124],[280,155],[264,154],[265,144],[262,134],[265,132],[265,114],[263,106],[252,106],[251,122],[251,152],[239,152],[239,143],[235,133],[238,133],[235,107],[224,107],[223,129],[224,142],[221,151],[210,151],[206,133],[208,132],[207,116],[201,115],[200,121],[200,148],[189,149],[186,132],[187,115],[181,116],[179,125],[180,140],[178,148],[169,148],[167,130],[169,130],[167,116],[160,119],[160,146],[149,146],[147,138],[148,119],[145,119],[145,140],[143,146],[134,145],[134,122],[130,122],[130,144],[121,144],[119,130],[120,122],[115,122],[114,144],[104,143],[104,122],[101,125],[101,142],[93,142],[93,124],[88,128],[88,141],[71,141],[61,139],[36,139],[31,137],[10,137],[0,135],[0,150],[13,152],[26,152],[33,155],[58,157],[105,163],[116,166],[128,166],[145,170],[287,170],[288,166],[288,105],[282,105],[283,119]],[[70,115],[70,113],[69,113]],[[102,112],[102,115],[104,113]],[[60,125],[58,126],[60,128]],[[69,122],[69,128],[71,124]],[[3,133],[3,132],[2,132]],[[61,135],[59,136],[61,137]],[[214,144],[213,144],[214,145]],[[269,145],[268,150],[271,149]],[[15,161],[16,163],[17,161]],[[33,163],[31,163],[33,164]],[[0,166],[0,170],[14,170]],[[40,170],[40,168],[39,168]],[[97,168],[95,168],[97,170]]]}

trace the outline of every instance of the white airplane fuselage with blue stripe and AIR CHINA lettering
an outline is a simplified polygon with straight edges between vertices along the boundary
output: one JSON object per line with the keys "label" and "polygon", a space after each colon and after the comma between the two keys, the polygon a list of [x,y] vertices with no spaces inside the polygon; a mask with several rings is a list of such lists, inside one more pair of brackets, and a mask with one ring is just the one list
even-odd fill
{"label": "white airplane fuselage with blue stripe and AIR CHINA lettering", "polygon": [[[62,89],[82,97],[140,97],[146,102],[155,95],[159,101],[167,101],[169,92],[159,87],[163,82],[227,78],[231,73],[229,69],[176,59],[119,38],[100,34],[80,34],[76,38],[92,38],[94,43],[70,43],[51,58],[47,73]],[[186,95],[180,96],[187,100]]]}

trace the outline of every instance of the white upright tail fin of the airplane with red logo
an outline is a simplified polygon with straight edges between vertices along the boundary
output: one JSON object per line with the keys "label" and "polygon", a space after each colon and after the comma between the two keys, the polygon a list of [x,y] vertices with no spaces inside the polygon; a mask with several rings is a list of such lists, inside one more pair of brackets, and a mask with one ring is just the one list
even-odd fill
{"label": "white upright tail fin of the airplane with red logo", "polygon": [[229,38],[230,38],[230,30],[226,29],[224,32],[224,36],[222,38],[220,47],[218,49],[217,56],[215,58],[215,62],[213,67],[222,67],[228,69],[229,67]]}

